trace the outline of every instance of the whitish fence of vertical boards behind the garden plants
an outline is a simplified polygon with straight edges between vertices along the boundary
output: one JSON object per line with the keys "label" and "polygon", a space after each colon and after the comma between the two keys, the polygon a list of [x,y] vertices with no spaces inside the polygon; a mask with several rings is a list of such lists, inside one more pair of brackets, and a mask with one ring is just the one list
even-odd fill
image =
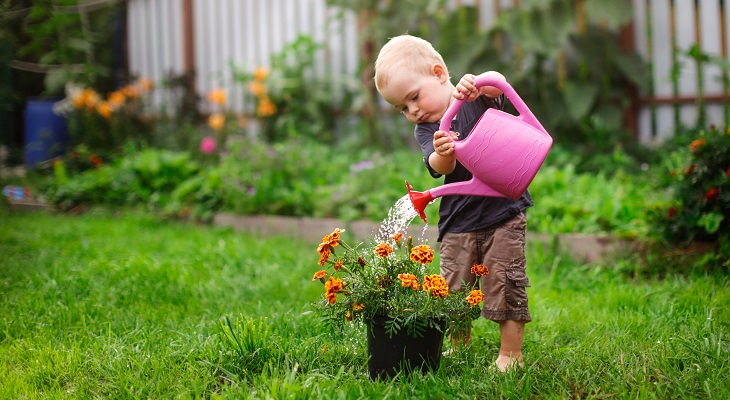
{"label": "whitish fence of vertical boards behind the garden plants", "polygon": [[[725,0],[575,0],[576,7],[586,1],[633,6],[624,45],[641,54],[651,72],[649,90],[638,94],[632,110],[632,128],[642,142],[662,141],[681,125],[730,124],[728,75],[721,67],[728,62]],[[451,5],[476,7],[480,24],[488,27],[519,3]],[[270,56],[299,34],[324,45],[317,54],[320,73],[357,73],[357,18],[334,18],[340,15],[325,0],[128,0],[129,68],[156,81],[194,70],[198,93],[227,88],[233,108],[244,112],[245,88],[234,81],[231,66],[268,66]],[[158,90],[155,104],[164,106],[168,96]]]}

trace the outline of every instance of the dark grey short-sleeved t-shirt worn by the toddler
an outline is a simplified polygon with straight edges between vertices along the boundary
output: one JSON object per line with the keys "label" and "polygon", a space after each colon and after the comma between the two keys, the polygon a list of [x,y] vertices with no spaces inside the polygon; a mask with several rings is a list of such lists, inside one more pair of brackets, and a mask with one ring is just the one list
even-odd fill
{"label": "dark grey short-sleeved t-shirt worn by the toddler", "polygon": [[[469,132],[474,128],[479,117],[488,108],[502,110],[504,101],[504,95],[496,99],[480,96],[473,102],[464,103],[451,123],[451,130],[459,132],[458,140],[463,140],[469,136]],[[438,122],[417,124],[415,130],[416,140],[423,150],[423,161],[434,178],[440,178],[441,174],[431,168],[428,164],[428,157],[434,152],[433,134],[438,130]],[[444,177],[444,184],[468,181],[471,177],[471,172],[457,160],[454,171]],[[482,196],[444,196],[441,198],[439,207],[438,241],[440,242],[447,232],[473,232],[487,229],[514,217],[532,205],[532,198],[527,191],[518,200]]]}

